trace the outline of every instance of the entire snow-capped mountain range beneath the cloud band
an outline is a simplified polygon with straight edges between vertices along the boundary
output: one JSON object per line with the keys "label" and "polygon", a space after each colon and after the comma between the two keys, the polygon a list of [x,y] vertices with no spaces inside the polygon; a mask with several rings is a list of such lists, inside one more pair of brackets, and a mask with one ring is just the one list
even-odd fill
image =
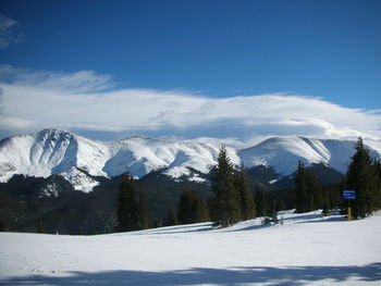
{"label": "entire snow-capped mountain range beneath the cloud band", "polygon": [[[236,165],[272,166],[280,175],[296,170],[298,161],[307,165],[324,163],[345,173],[355,141],[320,140],[304,137],[273,137],[248,149],[228,148]],[[57,129],[17,135],[0,141],[0,182],[14,174],[48,177],[59,174],[75,189],[90,191],[96,176],[113,177],[130,172],[143,177],[162,169],[174,178],[188,176],[200,181],[189,169],[208,173],[217,164],[220,145],[198,140],[162,140],[130,137],[118,141],[96,141]],[[376,158],[380,153],[372,150]]]}

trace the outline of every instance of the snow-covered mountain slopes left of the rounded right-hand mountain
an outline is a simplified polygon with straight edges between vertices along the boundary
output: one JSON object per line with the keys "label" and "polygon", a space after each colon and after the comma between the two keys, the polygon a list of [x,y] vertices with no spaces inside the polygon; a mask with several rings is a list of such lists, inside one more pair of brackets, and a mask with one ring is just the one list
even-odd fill
{"label": "snow-covered mountain slopes left of the rounded right-hand mountain", "polygon": [[[91,176],[112,177],[130,172],[142,177],[165,169],[164,174],[176,178],[190,175],[189,167],[208,173],[217,163],[219,147],[148,137],[100,142],[69,132],[45,129],[0,141],[0,182],[14,174],[40,177],[60,174],[76,189],[88,191],[97,185]],[[232,162],[239,164],[235,151],[229,151]]]}

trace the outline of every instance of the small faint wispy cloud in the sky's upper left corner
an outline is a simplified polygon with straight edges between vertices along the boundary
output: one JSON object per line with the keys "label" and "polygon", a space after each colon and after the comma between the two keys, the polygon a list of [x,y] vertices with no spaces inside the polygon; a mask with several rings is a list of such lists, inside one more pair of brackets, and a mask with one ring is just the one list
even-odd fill
{"label": "small faint wispy cloud in the sky's upper left corner", "polygon": [[22,41],[24,34],[19,30],[19,22],[0,14],[0,49]]}

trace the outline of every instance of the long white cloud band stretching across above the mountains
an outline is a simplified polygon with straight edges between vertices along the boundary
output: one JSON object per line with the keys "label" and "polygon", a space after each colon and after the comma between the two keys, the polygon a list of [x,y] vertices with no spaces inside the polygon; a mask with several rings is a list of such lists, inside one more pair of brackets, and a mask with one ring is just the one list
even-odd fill
{"label": "long white cloud band stretching across above the mountains", "polygon": [[[156,136],[219,137],[253,142],[280,135],[380,138],[379,111],[319,98],[272,94],[213,99],[183,91],[110,90],[91,71],[49,73],[0,66],[0,128],[59,127]],[[101,90],[106,90],[101,92]]]}

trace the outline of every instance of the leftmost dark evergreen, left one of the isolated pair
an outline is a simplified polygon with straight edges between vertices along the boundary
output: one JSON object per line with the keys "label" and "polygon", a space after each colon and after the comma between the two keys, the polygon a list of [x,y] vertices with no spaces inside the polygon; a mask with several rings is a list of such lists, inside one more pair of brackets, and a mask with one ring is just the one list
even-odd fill
{"label": "leftmost dark evergreen, left one of the isolated pair", "polygon": [[138,228],[136,186],[132,176],[123,175],[118,192],[118,228],[120,232]]}

